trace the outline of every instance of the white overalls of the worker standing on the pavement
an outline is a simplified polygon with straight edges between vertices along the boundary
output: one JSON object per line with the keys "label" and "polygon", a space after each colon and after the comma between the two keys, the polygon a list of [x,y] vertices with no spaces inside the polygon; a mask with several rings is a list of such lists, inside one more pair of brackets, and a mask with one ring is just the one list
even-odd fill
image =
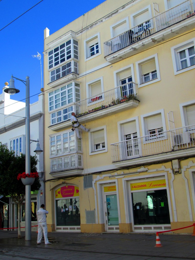
{"label": "white overalls of the worker standing on the pavement", "polygon": [[38,222],[38,236],[37,236],[37,244],[41,243],[42,236],[44,235],[45,244],[49,243],[48,237],[47,237],[47,222],[46,222],[46,214],[49,212],[47,210],[44,210],[43,208],[40,208],[37,211],[37,222]]}

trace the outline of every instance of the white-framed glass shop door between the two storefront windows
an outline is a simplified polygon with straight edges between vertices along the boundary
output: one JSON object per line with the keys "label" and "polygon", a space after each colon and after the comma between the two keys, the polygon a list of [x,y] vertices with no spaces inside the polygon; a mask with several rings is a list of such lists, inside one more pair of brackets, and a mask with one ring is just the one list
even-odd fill
{"label": "white-framed glass shop door between the two storefront windows", "polygon": [[116,194],[105,195],[106,231],[119,231],[119,215]]}

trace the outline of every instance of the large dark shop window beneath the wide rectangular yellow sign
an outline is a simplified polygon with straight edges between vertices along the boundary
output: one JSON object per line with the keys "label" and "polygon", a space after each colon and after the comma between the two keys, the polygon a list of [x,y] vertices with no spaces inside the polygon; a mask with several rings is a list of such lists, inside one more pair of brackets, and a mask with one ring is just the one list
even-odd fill
{"label": "large dark shop window beneath the wide rectangular yellow sign", "polygon": [[170,224],[167,190],[132,193],[134,225]]}

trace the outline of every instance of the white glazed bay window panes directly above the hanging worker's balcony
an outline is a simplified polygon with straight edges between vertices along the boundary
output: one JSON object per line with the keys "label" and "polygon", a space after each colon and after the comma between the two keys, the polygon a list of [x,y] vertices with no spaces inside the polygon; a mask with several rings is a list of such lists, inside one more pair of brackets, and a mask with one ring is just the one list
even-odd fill
{"label": "white glazed bay window panes directly above the hanging worker's balcony", "polygon": [[80,85],[72,82],[49,92],[49,111],[78,101],[80,101]]}

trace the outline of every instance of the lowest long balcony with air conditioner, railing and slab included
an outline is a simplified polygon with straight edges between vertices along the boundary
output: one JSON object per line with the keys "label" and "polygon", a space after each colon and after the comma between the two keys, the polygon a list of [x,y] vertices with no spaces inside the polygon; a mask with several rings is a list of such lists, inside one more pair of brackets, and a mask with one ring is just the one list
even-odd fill
{"label": "lowest long balcony with air conditioner, railing and slab included", "polygon": [[[186,152],[187,148],[191,149]],[[111,144],[111,153],[116,167],[191,156],[195,154],[195,125],[117,142]]]}

